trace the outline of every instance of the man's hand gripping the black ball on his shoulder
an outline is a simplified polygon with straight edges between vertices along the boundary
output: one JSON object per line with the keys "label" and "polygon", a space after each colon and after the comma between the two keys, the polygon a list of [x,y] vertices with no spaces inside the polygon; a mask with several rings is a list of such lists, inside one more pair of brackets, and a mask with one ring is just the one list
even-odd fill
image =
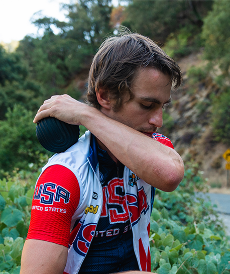
{"label": "man's hand gripping the black ball on his shoulder", "polygon": [[78,102],[69,95],[52,96],[40,107],[33,122],[38,123],[41,119],[50,116],[68,124],[81,125],[81,112],[85,108],[91,107]]}

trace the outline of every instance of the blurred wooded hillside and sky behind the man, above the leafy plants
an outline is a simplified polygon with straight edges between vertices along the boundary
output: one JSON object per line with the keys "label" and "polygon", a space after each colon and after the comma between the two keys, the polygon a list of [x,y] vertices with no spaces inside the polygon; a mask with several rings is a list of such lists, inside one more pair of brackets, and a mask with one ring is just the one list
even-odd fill
{"label": "blurred wooded hillside and sky behind the man, above the leafy plants", "polygon": [[0,3],[0,170],[28,169],[46,153],[32,118],[44,100],[84,100],[97,48],[119,27],[153,39],[181,66],[184,82],[159,132],[214,189],[226,189],[230,147],[230,1],[111,0]]}

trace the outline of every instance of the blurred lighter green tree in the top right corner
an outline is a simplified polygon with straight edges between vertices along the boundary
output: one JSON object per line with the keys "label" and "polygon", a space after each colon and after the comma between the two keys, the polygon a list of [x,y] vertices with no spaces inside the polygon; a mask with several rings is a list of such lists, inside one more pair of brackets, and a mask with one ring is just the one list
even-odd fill
{"label": "blurred lighter green tree in the top right corner", "polygon": [[212,11],[204,19],[202,36],[205,39],[204,57],[219,65],[229,75],[230,67],[230,2],[214,0]]}

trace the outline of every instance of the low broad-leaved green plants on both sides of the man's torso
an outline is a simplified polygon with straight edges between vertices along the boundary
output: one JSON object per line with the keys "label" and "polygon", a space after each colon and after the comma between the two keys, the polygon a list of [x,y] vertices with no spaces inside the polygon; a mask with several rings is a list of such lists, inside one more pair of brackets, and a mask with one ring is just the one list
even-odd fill
{"label": "low broad-leaved green plants on both sides of the man's torso", "polygon": [[[18,171],[0,180],[2,271],[19,273],[37,176],[38,172]],[[157,191],[150,227],[152,271],[229,274],[230,246],[222,223],[210,202],[196,195],[206,189],[197,165],[189,163],[176,191]]]}

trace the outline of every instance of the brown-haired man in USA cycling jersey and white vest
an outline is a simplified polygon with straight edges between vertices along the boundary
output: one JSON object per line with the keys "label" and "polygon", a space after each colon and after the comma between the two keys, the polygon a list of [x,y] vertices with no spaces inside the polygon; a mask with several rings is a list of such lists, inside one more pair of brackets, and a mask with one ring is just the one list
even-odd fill
{"label": "brown-haired man in USA cycling jersey and white vest", "polygon": [[175,190],[184,174],[177,152],[155,140],[171,146],[156,131],[181,79],[152,40],[125,34],[108,38],[96,53],[88,105],[67,95],[44,102],[35,123],[51,116],[89,131],[42,170],[22,274],[151,270],[154,190]]}

